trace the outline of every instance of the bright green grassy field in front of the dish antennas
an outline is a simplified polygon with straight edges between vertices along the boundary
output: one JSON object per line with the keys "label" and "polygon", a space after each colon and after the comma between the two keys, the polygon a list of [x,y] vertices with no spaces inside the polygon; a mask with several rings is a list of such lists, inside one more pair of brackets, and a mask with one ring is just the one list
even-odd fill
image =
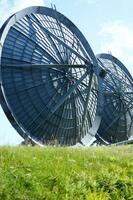
{"label": "bright green grassy field in front of the dish antennas", "polygon": [[133,200],[133,146],[0,148],[0,200]]}

